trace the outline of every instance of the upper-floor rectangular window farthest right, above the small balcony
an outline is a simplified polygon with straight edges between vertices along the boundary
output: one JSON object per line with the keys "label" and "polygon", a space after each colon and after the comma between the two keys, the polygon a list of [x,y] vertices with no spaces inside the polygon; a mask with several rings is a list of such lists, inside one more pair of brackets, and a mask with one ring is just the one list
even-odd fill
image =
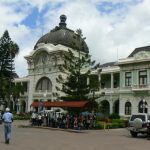
{"label": "upper-floor rectangular window farthest right, above the small balcony", "polygon": [[147,71],[139,71],[139,85],[147,85]]}

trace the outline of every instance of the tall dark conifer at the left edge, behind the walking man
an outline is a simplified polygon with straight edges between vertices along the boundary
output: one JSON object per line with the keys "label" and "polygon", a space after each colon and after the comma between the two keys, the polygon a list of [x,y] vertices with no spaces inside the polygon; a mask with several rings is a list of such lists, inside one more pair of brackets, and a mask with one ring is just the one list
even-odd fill
{"label": "tall dark conifer at the left edge, behind the walking man", "polygon": [[9,99],[12,80],[16,76],[14,58],[19,53],[18,45],[13,42],[6,30],[0,38],[0,98]]}

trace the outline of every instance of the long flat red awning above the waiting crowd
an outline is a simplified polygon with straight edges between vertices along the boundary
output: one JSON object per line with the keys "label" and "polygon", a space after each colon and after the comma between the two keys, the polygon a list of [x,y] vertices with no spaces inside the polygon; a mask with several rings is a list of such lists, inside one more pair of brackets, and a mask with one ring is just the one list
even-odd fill
{"label": "long flat red awning above the waiting crowd", "polygon": [[57,102],[33,102],[31,104],[32,107],[74,107],[81,108],[87,107],[89,105],[89,101],[57,101]]}

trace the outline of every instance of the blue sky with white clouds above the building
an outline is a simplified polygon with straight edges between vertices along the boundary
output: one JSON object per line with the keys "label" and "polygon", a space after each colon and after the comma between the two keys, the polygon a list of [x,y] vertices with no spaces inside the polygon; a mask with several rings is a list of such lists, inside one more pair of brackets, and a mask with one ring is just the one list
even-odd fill
{"label": "blue sky with white clouds above the building", "polygon": [[150,0],[0,0],[0,37],[8,30],[20,48],[16,73],[28,75],[28,55],[38,39],[67,16],[67,27],[82,29],[97,63],[126,58],[150,45]]}

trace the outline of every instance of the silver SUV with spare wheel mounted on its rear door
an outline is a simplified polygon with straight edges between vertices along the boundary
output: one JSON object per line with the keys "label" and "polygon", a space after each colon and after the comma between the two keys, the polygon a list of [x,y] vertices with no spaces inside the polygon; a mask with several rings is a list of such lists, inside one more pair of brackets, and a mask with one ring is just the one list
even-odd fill
{"label": "silver SUV with spare wheel mounted on its rear door", "polygon": [[129,119],[128,130],[131,136],[137,137],[139,133],[147,134],[148,125],[150,124],[150,114],[137,113],[132,114]]}

